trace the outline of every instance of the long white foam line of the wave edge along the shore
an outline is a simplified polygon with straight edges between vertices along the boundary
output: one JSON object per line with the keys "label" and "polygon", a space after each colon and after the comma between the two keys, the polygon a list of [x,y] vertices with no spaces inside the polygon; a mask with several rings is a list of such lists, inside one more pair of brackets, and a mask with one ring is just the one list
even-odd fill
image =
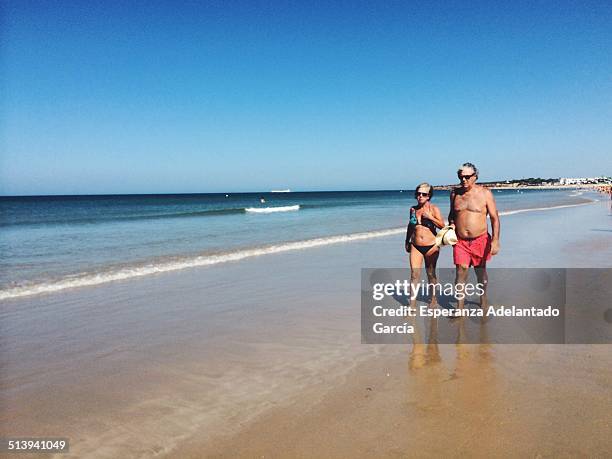
{"label": "long white foam line of the wave edge along the shore", "polygon": [[[591,204],[594,201],[584,202],[580,204],[565,204],[550,207],[536,207],[531,209],[517,209],[500,212],[500,215],[515,215],[524,212],[535,212],[544,210],[561,209],[566,207],[576,207],[585,204]],[[299,207],[299,206],[286,206]],[[185,258],[182,260],[173,260],[160,262],[157,264],[147,264],[130,268],[121,268],[113,271],[99,273],[84,273],[81,275],[73,275],[63,279],[50,282],[41,282],[38,284],[11,286],[0,290],[0,301],[19,298],[24,296],[38,295],[42,293],[53,293],[61,290],[67,290],[76,287],[86,287],[92,285],[105,284],[107,282],[120,281],[131,279],[134,277],[148,276],[151,274],[165,273],[169,271],[178,271],[181,269],[194,268],[199,266],[210,266],[229,261],[239,261],[245,258],[257,257],[260,255],[270,255],[274,253],[289,252],[292,250],[310,249],[313,247],[321,247],[325,245],[338,244],[342,242],[353,242],[364,239],[372,239],[377,237],[393,236],[402,234],[406,231],[404,227],[390,228],[384,230],[367,231],[362,233],[342,234],[338,236],[320,237],[315,239],[306,239],[302,241],[285,242],[264,247],[256,247],[250,249],[240,249],[225,253],[212,255],[199,255],[195,257]]]}

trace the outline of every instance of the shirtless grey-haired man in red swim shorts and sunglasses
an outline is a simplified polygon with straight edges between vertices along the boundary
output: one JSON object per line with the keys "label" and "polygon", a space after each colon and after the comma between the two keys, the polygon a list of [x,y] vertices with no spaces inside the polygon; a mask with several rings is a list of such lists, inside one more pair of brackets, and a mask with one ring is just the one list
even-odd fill
{"label": "shirtless grey-haired man in red swim shorts and sunglasses", "polygon": [[[487,261],[499,252],[499,214],[493,193],[476,185],[478,168],[472,163],[463,164],[457,171],[461,185],[451,191],[449,224],[455,227],[457,244],[453,246],[453,262],[456,267],[455,285],[465,284],[470,266],[474,266],[479,283],[485,287],[480,306],[487,305]],[[491,219],[491,234],[487,231],[487,215]],[[463,308],[464,299],[457,308]]]}

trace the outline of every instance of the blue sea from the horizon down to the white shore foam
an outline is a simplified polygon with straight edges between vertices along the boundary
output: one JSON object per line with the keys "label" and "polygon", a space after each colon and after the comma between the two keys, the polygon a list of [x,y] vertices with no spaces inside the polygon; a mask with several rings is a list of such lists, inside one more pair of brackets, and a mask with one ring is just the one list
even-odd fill
{"label": "blue sea from the horizon down to the white shore foam", "polygon": [[[495,190],[501,215],[578,205]],[[432,202],[448,213],[449,192]],[[411,190],[0,197],[0,300],[405,231]]]}

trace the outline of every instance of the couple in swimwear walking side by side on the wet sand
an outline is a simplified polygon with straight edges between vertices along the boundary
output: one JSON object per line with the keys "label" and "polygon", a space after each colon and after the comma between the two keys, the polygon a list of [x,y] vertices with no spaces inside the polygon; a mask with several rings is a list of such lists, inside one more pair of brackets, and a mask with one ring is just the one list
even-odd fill
{"label": "couple in swimwear walking side by side on the wet sand", "polygon": [[[477,185],[478,168],[472,163],[464,163],[457,171],[460,185],[450,193],[450,212],[448,226],[438,206],[432,204],[433,187],[429,183],[417,186],[414,196],[417,204],[410,208],[410,220],[406,231],[406,251],[410,254],[411,282],[421,278],[421,266],[425,262],[427,279],[430,284],[437,283],[436,263],[445,237],[452,229],[456,233],[453,245],[453,262],[456,267],[455,284],[464,284],[470,266],[474,267],[478,283],[487,284],[487,261],[499,252],[499,214],[493,193],[488,188]],[[488,232],[487,216],[491,220],[491,233]],[[442,229],[437,235],[438,229]],[[454,241],[453,241],[454,242]],[[481,306],[486,303],[482,295]],[[435,295],[432,304],[436,302]],[[460,300],[458,308],[463,307]]]}

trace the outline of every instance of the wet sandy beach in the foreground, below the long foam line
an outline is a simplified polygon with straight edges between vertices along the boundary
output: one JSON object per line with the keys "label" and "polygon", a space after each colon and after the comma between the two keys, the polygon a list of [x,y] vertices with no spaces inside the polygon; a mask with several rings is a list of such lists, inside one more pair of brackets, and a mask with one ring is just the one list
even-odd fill
{"label": "wet sandy beach in the foreground, below the long foam line", "polygon": [[[608,206],[502,217],[491,266],[609,267]],[[402,250],[392,235],[5,301],[2,435],[69,437],[61,457],[612,450],[608,345],[361,344],[360,270],[405,267]]]}

